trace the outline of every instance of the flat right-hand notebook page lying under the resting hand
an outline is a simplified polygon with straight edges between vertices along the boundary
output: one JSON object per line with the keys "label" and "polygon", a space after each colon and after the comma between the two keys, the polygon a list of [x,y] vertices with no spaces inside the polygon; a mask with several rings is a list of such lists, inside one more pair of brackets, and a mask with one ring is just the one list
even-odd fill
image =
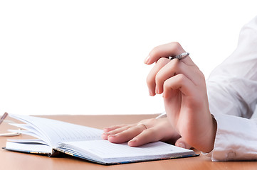
{"label": "flat right-hand notebook page lying under the resting hand", "polygon": [[141,147],[130,147],[127,143],[114,144],[106,140],[98,141],[81,141],[81,142],[65,142],[65,145],[59,145],[59,148],[74,149],[73,154],[86,157],[86,153],[90,152],[95,157],[105,159],[107,162],[122,160],[129,161],[132,158],[137,159],[154,159],[167,158],[172,156],[182,156],[194,154],[192,150],[175,147],[164,142],[152,142]]}

